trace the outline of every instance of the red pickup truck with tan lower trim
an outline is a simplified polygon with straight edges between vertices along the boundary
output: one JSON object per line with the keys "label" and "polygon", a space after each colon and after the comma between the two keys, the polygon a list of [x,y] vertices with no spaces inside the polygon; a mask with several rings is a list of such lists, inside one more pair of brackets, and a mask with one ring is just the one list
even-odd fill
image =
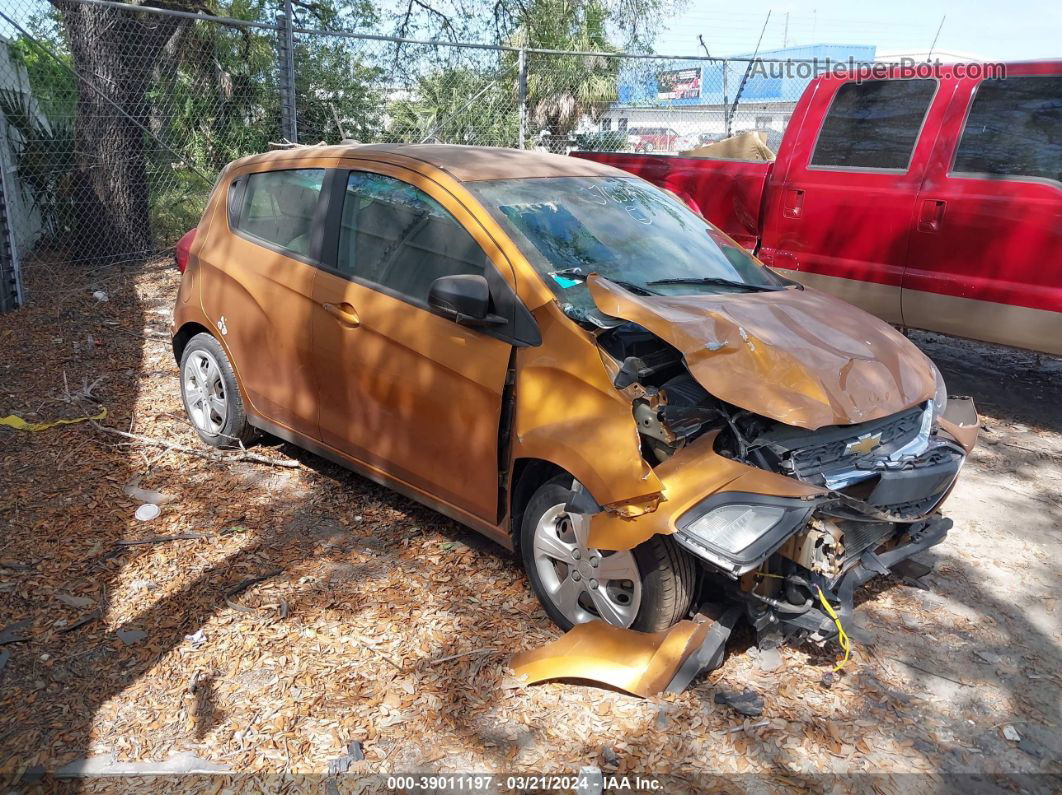
{"label": "red pickup truck with tan lower trim", "polygon": [[573,154],[889,323],[1062,355],[1062,61],[999,66],[816,77],[773,162]]}

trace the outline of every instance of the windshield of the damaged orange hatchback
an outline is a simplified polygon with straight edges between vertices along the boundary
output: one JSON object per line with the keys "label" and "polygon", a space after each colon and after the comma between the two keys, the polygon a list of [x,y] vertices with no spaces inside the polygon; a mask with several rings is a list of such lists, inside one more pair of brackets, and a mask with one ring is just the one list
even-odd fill
{"label": "windshield of the damaged orange hatchback", "polygon": [[595,311],[592,273],[643,295],[778,290],[768,271],[670,194],[636,177],[466,183],[546,277],[565,311]]}

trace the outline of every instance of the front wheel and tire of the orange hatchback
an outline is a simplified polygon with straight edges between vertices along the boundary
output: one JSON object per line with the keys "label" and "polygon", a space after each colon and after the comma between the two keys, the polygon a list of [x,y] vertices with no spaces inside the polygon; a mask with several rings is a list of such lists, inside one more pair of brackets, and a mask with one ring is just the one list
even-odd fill
{"label": "front wheel and tire of the orange hatchback", "polygon": [[665,536],[633,550],[587,547],[589,517],[568,514],[571,478],[554,478],[534,492],[519,529],[520,556],[531,589],[562,629],[601,619],[639,632],[681,621],[693,600],[689,554]]}

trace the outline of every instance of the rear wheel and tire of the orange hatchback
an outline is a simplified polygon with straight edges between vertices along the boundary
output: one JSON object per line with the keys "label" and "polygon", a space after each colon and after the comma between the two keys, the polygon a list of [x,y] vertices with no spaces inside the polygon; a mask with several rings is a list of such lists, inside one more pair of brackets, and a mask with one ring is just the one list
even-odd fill
{"label": "rear wheel and tire of the orange hatchback", "polygon": [[258,435],[225,349],[210,334],[195,334],[181,355],[181,397],[199,437],[211,447],[243,447]]}

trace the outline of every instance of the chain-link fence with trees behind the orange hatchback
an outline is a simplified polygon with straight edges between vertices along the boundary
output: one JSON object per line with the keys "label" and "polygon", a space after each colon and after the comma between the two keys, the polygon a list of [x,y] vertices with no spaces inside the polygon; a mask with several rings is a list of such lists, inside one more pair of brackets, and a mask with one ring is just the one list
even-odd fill
{"label": "chain-link fence with trees behind the orange hatchback", "polygon": [[172,246],[224,165],[272,144],[670,153],[759,129],[776,148],[813,75],[792,62],[315,31],[282,1],[253,7],[253,19],[109,0],[0,8],[0,309],[21,301],[19,262],[34,256],[91,265]]}

